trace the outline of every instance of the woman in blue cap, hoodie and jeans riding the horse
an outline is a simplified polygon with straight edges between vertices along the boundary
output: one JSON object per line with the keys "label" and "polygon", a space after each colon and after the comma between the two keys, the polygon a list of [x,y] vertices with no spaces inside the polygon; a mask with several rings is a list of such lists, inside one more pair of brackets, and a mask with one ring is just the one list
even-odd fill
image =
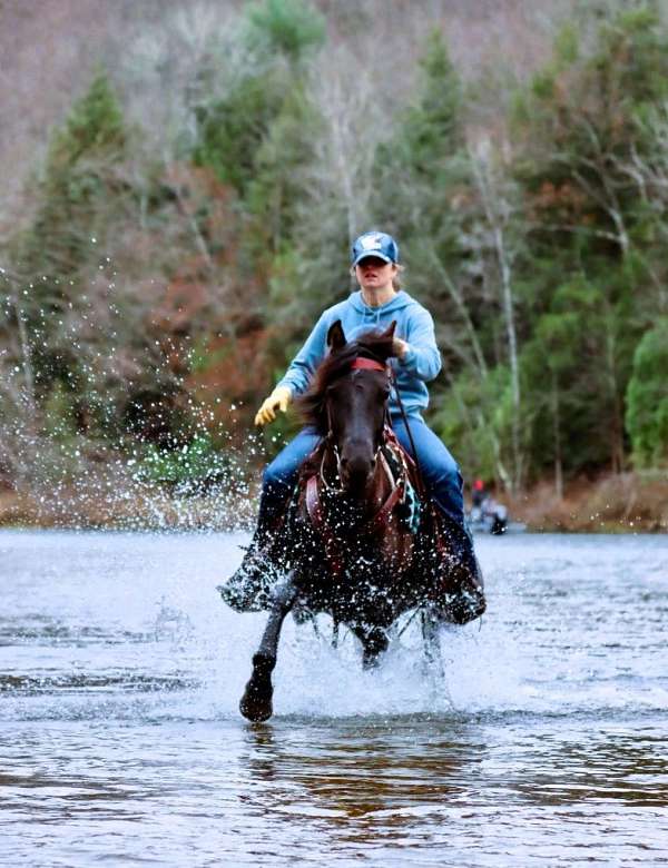
{"label": "woman in blue cap, hoodie and jeans riding the horse", "polygon": [[[395,359],[392,366],[420,468],[430,496],[444,516],[460,566],[478,583],[479,568],[464,524],[462,476],[450,452],[421,415],[429,404],[425,384],[441,369],[432,317],[407,293],[397,290],[401,269],[399,247],[390,235],[380,231],[361,235],[353,244],[352,268],[360,289],[345,302],[324,312],[283,379],[261,406],[255,423],[266,425],[272,422],[277,411],[285,412],[294,395],[307,388],[316,367],[325,357],[330,326],[337,319],[341,319],[348,341],[364,332],[385,329],[392,320],[396,320]],[[409,433],[400,412],[393,394],[390,398],[392,427],[411,454]],[[317,434],[312,428],[304,428],[264,472],[259,516],[253,542],[239,569],[220,588],[223,599],[237,611],[263,606],[258,594],[263,586],[263,574],[267,568],[271,569],[266,552],[272,542],[272,532],[281,522],[293,493],[299,465],[317,443]]]}

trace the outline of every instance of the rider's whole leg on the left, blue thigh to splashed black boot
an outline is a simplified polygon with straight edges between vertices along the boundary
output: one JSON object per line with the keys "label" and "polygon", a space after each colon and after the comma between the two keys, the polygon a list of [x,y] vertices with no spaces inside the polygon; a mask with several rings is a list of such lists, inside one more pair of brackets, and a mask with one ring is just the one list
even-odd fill
{"label": "rider's whole leg on the left, blue thigh to splashed black boot", "polygon": [[274,532],[285,514],[299,465],[318,441],[313,428],[303,428],[264,471],[253,540],[240,566],[218,589],[225,602],[238,612],[257,611],[269,602],[272,563],[268,554]]}

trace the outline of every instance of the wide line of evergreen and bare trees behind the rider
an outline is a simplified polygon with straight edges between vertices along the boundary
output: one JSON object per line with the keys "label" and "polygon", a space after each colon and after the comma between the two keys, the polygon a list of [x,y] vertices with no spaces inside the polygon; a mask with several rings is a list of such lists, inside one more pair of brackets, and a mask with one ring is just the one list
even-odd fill
{"label": "wide line of evergreen and bare trees behind the rider", "polygon": [[312,6],[264,0],[207,42],[161,138],[104,69],[52,130],[0,254],[6,482],[130,454],[178,476],[184,451],[244,444],[371,227],[434,315],[430,421],[468,475],[561,494],[668,465],[658,4],[563,24],[484,127],[440,31],[397,107],[331,48]]}

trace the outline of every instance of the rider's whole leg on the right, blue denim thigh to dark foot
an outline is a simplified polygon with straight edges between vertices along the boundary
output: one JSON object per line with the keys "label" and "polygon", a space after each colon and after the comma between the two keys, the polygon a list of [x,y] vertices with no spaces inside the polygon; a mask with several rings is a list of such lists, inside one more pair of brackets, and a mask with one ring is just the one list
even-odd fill
{"label": "rider's whole leg on the right, blue denim thigh to dark foot", "polygon": [[[442,515],[451,554],[459,568],[458,571],[462,572],[460,581],[462,586],[468,586],[475,598],[471,600],[470,606],[464,606],[470,611],[458,612],[454,618],[454,620],[465,622],[482,614],[484,598],[482,596],[482,573],[473,550],[473,539],[464,519],[462,474],[443,442],[424,424],[420,416],[409,417],[409,425],[424,484]],[[392,427],[401,445],[412,456],[411,442],[403,420],[393,416]]]}

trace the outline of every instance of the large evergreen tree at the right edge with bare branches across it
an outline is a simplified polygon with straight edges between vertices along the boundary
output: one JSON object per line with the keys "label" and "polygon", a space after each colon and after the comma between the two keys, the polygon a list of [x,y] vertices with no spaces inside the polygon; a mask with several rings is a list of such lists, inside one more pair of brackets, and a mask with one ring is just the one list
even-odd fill
{"label": "large evergreen tree at the right edge with bare branches across it", "polygon": [[[633,166],[656,148],[644,119],[668,95],[667,48],[658,17],[645,6],[603,17],[591,51],[568,28],[556,60],[514,115],[518,178],[530,216],[520,265],[525,327],[546,339],[560,334],[557,320],[570,312],[557,287],[569,275],[570,292],[586,286],[597,296],[571,324],[588,349],[581,358],[587,376],[571,379],[569,393],[590,412],[571,407],[564,415],[560,405],[560,418],[579,425],[564,435],[570,472],[605,460],[595,447],[596,424],[606,432],[599,442],[610,466],[623,465],[623,397],[633,347],[647,326],[651,224],[660,219]],[[583,297],[570,300],[578,310]],[[552,394],[557,387],[554,381]]]}

